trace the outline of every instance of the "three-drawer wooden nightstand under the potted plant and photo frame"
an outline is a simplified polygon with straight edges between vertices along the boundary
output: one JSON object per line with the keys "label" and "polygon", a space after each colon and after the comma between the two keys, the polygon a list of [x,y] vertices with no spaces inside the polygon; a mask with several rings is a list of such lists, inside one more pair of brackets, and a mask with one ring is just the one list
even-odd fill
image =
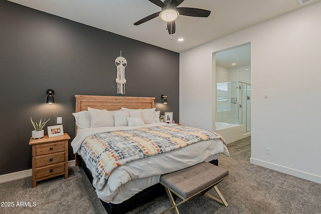
{"label": "three-drawer wooden nightstand under the potted plant and photo frame", "polygon": [[37,181],[65,174],[68,178],[68,140],[69,135],[56,137],[44,136],[41,139],[30,138],[32,145],[32,187]]}

